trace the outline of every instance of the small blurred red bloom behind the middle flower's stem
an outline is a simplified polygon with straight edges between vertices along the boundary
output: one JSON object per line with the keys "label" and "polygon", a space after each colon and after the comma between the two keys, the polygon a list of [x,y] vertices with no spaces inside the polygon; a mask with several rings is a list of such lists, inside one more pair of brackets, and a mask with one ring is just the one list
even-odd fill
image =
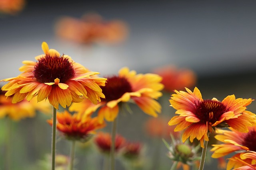
{"label": "small blurred red bloom behind the middle flower's stem", "polygon": [[[112,145],[111,135],[109,133],[99,132],[94,140],[98,149],[106,154],[110,153],[110,148]],[[118,152],[121,148],[123,148],[126,144],[126,139],[121,135],[116,135],[115,140],[115,152]]]}

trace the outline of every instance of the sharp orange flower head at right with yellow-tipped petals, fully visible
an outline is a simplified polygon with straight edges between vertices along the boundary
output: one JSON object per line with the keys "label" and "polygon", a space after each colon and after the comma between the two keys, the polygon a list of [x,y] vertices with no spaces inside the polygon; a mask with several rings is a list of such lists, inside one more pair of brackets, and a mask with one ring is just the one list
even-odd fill
{"label": "sharp orange flower head at right with yellow-tipped petals, fully visible", "polygon": [[183,142],[188,138],[192,142],[196,138],[204,147],[203,141],[209,141],[208,132],[215,127],[232,127],[246,133],[248,126],[255,125],[256,115],[246,110],[252,99],[236,99],[230,95],[222,102],[216,98],[203,100],[198,88],[194,88],[194,92],[188,88],[186,90],[175,90],[176,94],[172,94],[169,100],[178,116],[172,117],[168,125],[177,125],[174,131],[186,129],[182,135]]}

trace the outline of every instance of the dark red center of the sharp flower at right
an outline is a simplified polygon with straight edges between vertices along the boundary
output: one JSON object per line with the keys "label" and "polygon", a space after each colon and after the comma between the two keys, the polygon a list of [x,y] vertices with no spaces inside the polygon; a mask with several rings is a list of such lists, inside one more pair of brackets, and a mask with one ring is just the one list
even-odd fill
{"label": "dark red center of the sharp flower at right", "polygon": [[227,107],[216,100],[204,100],[196,105],[196,116],[204,123],[214,124],[227,111]]}

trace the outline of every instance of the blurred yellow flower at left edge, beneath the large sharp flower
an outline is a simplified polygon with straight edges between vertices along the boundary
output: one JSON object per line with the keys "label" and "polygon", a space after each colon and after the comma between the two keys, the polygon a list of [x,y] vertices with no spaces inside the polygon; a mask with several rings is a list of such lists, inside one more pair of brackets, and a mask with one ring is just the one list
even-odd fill
{"label": "blurred yellow flower at left edge, beneath the large sharp flower", "polygon": [[19,103],[12,104],[12,98],[6,99],[4,96],[5,92],[0,90],[0,119],[4,117],[9,117],[14,121],[19,121],[27,117],[34,117],[36,111],[42,113],[50,113],[52,106],[49,102],[42,101],[36,102],[36,100],[22,100]]}

